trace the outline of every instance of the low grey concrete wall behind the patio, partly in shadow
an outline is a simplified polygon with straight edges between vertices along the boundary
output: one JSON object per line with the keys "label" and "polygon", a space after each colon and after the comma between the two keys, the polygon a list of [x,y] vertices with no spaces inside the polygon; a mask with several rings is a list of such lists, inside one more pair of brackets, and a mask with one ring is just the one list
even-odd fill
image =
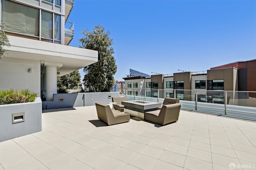
{"label": "low grey concrete wall behind the patio, partly in shadow", "polygon": [[119,97],[119,92],[58,93],[53,95],[53,101],[42,102],[42,110],[92,106],[96,102],[108,104],[112,102],[112,97]]}

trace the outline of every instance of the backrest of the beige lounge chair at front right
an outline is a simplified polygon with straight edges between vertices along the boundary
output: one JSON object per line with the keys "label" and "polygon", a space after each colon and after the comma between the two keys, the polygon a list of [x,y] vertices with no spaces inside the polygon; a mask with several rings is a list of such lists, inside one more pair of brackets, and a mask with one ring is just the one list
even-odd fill
{"label": "backrest of the beige lounge chair at front right", "polygon": [[162,119],[163,124],[178,121],[180,114],[180,103],[174,103],[172,105],[163,105],[158,115],[159,119]]}

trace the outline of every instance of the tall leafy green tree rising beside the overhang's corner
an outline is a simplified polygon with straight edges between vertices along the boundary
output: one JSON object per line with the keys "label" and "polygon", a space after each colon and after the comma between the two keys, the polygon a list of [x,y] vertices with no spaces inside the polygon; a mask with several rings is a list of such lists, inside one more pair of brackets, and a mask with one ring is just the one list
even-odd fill
{"label": "tall leafy green tree rising beside the overhang's corner", "polygon": [[84,85],[89,91],[110,91],[115,83],[114,74],[117,70],[110,32],[105,32],[103,26],[96,25],[93,32],[83,30],[82,33],[84,38],[79,39],[80,47],[98,51],[98,62],[84,67]]}

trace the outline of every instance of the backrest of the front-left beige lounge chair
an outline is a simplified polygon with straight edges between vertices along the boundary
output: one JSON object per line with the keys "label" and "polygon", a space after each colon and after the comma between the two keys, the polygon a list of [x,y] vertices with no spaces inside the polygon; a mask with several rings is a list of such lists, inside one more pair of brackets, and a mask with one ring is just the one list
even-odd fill
{"label": "backrest of the front-left beige lounge chair", "polygon": [[108,124],[108,119],[110,119],[110,117],[114,117],[110,106],[100,102],[95,103],[95,105],[98,119]]}

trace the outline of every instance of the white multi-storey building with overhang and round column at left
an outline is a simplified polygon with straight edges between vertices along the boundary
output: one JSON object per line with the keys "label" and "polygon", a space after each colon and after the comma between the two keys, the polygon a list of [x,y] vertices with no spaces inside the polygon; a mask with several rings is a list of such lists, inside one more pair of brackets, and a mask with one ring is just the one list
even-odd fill
{"label": "white multi-storey building with overhang and round column at left", "polygon": [[[57,93],[57,77],[98,61],[98,51],[68,46],[74,0],[2,0],[0,18],[11,46],[0,60],[0,90]],[[65,28],[68,26],[68,28]]]}

